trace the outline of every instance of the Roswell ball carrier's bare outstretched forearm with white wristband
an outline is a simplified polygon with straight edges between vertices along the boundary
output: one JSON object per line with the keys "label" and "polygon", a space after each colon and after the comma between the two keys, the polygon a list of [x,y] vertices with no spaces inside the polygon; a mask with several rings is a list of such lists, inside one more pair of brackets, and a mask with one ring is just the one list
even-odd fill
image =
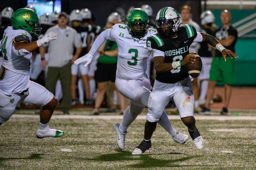
{"label": "Roswell ball carrier's bare outstretched forearm with white wristband", "polygon": [[206,33],[201,33],[201,34],[202,34],[202,38],[203,38],[202,41],[206,41],[211,46],[216,47],[216,49],[222,53],[222,57],[223,57],[224,61],[226,61],[227,55],[230,58],[233,58],[233,57],[238,58],[238,56],[234,52],[227,50],[225,47],[223,47],[221,45],[221,43],[219,43],[219,41],[216,38],[214,38],[213,36],[206,34]]}

